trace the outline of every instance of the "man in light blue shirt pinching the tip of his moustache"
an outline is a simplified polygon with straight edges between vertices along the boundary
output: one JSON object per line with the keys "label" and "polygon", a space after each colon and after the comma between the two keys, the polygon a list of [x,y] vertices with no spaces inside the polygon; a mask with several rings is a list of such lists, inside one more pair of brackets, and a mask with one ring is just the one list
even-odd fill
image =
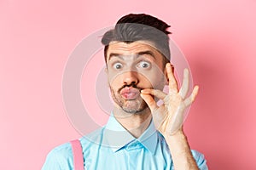
{"label": "man in light blue shirt pinching the tip of his moustache", "polygon": [[[102,37],[114,109],[105,127],[79,139],[84,168],[207,169],[204,156],[190,150],[183,133],[183,113],[198,87],[187,97],[185,69],[177,88],[168,27],[147,14],[128,14]],[[162,92],[165,85],[168,94]],[[71,144],[52,150],[43,169],[73,169]]]}

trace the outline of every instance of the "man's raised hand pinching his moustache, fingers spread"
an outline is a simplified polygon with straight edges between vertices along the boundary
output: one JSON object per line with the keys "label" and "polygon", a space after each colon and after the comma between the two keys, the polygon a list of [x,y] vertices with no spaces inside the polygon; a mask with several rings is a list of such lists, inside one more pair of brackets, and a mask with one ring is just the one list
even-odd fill
{"label": "man's raised hand pinching his moustache, fingers spread", "polygon": [[[152,112],[155,127],[164,136],[172,136],[182,129],[184,111],[195,100],[199,87],[195,86],[192,94],[186,98],[189,91],[189,70],[184,69],[183,85],[180,90],[177,88],[177,81],[170,63],[166,64],[166,73],[169,80],[169,94],[148,88],[141,91],[141,96]],[[162,99],[164,101],[163,105],[158,106],[153,96]]]}

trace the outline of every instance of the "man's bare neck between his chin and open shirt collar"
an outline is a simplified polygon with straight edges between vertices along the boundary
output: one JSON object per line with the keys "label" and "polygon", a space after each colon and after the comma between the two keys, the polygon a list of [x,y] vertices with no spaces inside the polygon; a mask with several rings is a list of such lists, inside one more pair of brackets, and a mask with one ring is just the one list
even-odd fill
{"label": "man's bare neck between his chin and open shirt collar", "polygon": [[143,134],[151,121],[151,111],[149,108],[137,114],[127,113],[120,108],[115,108],[113,116],[135,138],[139,138]]}

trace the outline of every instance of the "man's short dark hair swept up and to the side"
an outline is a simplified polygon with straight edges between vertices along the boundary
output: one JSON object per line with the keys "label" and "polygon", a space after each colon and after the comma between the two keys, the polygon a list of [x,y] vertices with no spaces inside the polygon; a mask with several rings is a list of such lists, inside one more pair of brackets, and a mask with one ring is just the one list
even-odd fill
{"label": "man's short dark hair swept up and to the side", "polygon": [[108,45],[110,42],[135,42],[147,40],[153,42],[160,54],[163,55],[164,65],[170,61],[168,34],[170,27],[164,21],[148,14],[127,14],[118,20],[113,30],[107,31],[102,37],[105,46],[104,55],[107,62]]}

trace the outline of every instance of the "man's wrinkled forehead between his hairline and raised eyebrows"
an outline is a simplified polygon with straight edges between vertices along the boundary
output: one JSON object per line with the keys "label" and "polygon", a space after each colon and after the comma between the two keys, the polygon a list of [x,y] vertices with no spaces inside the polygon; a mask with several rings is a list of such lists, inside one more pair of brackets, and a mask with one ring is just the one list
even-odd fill
{"label": "man's wrinkled forehead between his hairline and raised eyebrows", "polygon": [[[107,57],[110,54],[131,55],[138,54],[143,51],[151,51],[154,55],[160,55],[158,50],[154,47],[153,42],[137,41],[137,42],[110,42],[108,46]],[[107,59],[107,60],[108,60]]]}

